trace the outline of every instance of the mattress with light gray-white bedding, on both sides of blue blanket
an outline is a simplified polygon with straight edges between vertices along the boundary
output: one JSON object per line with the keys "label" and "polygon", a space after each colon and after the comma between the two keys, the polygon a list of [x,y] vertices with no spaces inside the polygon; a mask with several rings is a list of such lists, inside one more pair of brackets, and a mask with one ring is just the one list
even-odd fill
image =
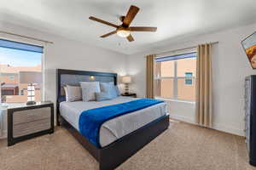
{"label": "mattress with light gray-white bedding, on both sides of blue blanket", "polygon": [[[135,98],[120,96],[115,99],[105,101],[75,101],[61,102],[60,113],[73,127],[79,131],[79,116],[83,111],[94,109],[106,105],[115,105],[129,102]],[[108,113],[106,113],[108,114]],[[153,122],[160,116],[166,115],[166,103],[152,105],[145,109],[134,111],[123,116],[115,117],[108,122],[104,122],[99,132],[99,143],[102,147],[113,143],[115,140],[122,138],[126,134],[132,133],[149,122]]]}

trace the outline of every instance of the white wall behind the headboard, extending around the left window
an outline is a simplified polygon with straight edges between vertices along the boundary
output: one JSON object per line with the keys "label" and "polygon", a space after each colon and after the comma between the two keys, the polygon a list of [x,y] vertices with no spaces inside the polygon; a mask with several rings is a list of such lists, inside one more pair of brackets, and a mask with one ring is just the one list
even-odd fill
{"label": "white wall behind the headboard, extending around the left window", "polygon": [[[54,42],[54,44],[47,44],[44,54],[45,100],[51,100],[54,102],[56,100],[55,70],[58,68],[82,71],[108,71],[118,73],[119,76],[124,76],[126,73],[125,54],[118,54],[106,49],[92,47],[82,42],[56,37],[41,31],[35,31],[3,22],[0,22],[0,30],[10,31],[30,37],[38,37]],[[24,38],[7,36],[4,34],[0,34],[0,37],[34,42]],[[6,119],[5,116],[4,118]]]}

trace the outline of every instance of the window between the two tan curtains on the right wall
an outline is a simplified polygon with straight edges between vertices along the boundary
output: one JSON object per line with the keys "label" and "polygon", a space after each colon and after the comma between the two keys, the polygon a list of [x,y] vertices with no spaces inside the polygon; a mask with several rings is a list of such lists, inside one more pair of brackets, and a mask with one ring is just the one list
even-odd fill
{"label": "window between the two tan curtains on the right wall", "polygon": [[156,58],[154,68],[156,97],[195,101],[196,53]]}

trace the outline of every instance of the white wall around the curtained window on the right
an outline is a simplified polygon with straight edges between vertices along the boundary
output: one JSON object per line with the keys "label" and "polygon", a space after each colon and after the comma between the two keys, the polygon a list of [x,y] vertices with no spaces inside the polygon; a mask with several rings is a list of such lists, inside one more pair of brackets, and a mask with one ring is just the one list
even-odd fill
{"label": "white wall around the curtained window on the right", "polygon": [[[178,42],[166,42],[166,48],[128,56],[127,71],[133,76],[131,91],[139,97],[145,95],[145,58],[146,54],[172,51],[193,47],[200,43],[216,42],[212,49],[213,81],[213,128],[238,135],[244,135],[244,79],[256,74],[241,47],[241,40],[255,31],[256,24],[243,26],[207,35],[190,37]],[[168,47],[167,47],[168,46]],[[168,101],[172,117],[185,122],[195,122],[195,104]]]}

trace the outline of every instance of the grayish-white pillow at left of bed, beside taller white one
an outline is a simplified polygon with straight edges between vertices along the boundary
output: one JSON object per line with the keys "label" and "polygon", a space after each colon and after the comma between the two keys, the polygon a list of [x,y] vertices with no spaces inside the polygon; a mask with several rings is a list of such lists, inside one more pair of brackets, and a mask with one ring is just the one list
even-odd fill
{"label": "grayish-white pillow at left of bed, beside taller white one", "polygon": [[66,94],[66,101],[79,101],[82,100],[82,91],[79,86],[69,86],[64,87]]}

